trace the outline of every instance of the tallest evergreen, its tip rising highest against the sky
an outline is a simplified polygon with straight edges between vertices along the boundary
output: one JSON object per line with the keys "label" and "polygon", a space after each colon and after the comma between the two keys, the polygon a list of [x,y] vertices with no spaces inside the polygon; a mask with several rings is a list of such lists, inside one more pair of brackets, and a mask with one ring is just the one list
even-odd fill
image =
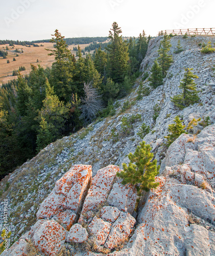
{"label": "tallest evergreen, its tip rising highest against the sky", "polygon": [[109,31],[109,38],[111,44],[107,46],[108,60],[107,71],[108,76],[113,79],[114,82],[122,83],[125,76],[128,73],[128,45],[123,41],[121,28],[114,22],[112,29]]}

